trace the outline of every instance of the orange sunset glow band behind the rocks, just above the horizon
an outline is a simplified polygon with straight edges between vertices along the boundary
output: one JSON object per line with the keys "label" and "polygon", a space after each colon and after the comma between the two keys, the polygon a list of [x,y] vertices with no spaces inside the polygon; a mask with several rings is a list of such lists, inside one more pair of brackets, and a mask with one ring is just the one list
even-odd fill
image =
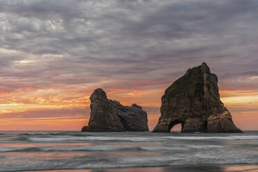
{"label": "orange sunset glow band behind the rocks, just above the horizon", "polygon": [[[67,94],[70,91],[35,89],[2,94],[0,130],[24,130],[25,126],[26,130],[80,130],[89,120],[89,96],[93,89],[89,92]],[[152,129],[160,117],[160,98],[163,92],[162,89],[107,89],[107,96],[121,100],[123,105],[137,103],[143,106],[148,112],[148,124]],[[256,129],[258,98],[255,91],[221,90],[221,101],[232,112],[239,127],[246,130]]]}

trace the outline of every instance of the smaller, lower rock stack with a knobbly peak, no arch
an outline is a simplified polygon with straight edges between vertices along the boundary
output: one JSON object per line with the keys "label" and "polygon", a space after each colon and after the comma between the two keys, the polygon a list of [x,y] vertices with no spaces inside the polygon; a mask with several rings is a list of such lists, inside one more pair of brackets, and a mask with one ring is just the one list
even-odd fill
{"label": "smaller, lower rock stack with a knobbly peak, no arch", "polygon": [[89,99],[92,112],[88,126],[82,131],[148,131],[147,113],[139,105],[123,106],[118,101],[109,100],[100,88],[95,89]]}

